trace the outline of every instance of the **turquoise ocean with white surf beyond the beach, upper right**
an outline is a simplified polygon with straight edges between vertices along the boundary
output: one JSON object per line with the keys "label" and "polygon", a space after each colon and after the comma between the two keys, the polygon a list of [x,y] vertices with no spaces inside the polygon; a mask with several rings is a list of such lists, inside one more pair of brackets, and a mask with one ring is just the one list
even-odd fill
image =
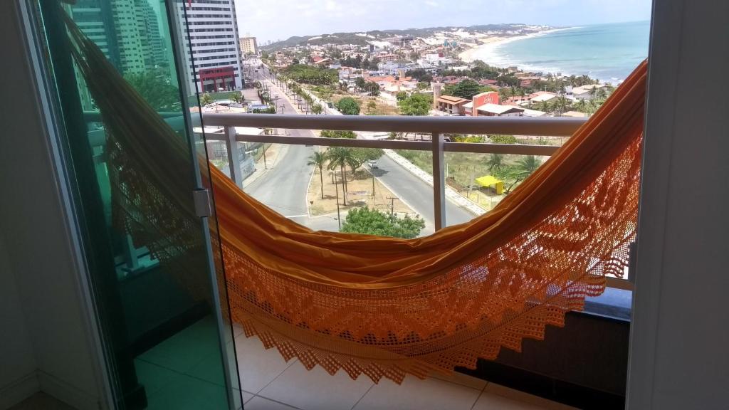
{"label": "turquoise ocean with white surf beyond the beach, upper right", "polygon": [[617,84],[648,56],[650,21],[580,26],[481,46],[473,58]]}

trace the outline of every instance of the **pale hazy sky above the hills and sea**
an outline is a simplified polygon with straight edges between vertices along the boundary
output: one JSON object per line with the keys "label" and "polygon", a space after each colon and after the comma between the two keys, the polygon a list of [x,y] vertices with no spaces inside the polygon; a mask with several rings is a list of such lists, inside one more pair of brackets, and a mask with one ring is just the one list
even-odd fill
{"label": "pale hazy sky above the hills and sea", "polygon": [[235,0],[239,34],[259,44],[338,31],[649,20],[650,7],[651,0]]}

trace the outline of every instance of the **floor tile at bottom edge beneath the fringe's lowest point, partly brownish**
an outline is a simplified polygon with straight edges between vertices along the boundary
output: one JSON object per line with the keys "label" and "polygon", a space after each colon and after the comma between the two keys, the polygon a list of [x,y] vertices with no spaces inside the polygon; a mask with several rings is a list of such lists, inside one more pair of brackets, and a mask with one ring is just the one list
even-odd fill
{"label": "floor tile at bottom edge beneath the fringe's lowest point, partly brownish", "polygon": [[381,380],[364,395],[355,410],[469,410],[476,402],[480,390],[440,379],[420,380],[412,376],[402,385]]}

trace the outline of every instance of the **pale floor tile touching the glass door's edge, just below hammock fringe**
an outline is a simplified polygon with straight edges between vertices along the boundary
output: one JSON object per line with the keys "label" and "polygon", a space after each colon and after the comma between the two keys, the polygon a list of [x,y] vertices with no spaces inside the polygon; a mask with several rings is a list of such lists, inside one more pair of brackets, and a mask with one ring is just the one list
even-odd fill
{"label": "pale floor tile touching the glass door's edge, just below hammock fringe", "polygon": [[292,359],[286,363],[275,348],[264,349],[257,337],[246,338],[241,335],[236,338],[235,352],[238,355],[241,387],[252,393],[260,392],[266,384],[276,379],[276,376],[295,362],[295,359]]}

